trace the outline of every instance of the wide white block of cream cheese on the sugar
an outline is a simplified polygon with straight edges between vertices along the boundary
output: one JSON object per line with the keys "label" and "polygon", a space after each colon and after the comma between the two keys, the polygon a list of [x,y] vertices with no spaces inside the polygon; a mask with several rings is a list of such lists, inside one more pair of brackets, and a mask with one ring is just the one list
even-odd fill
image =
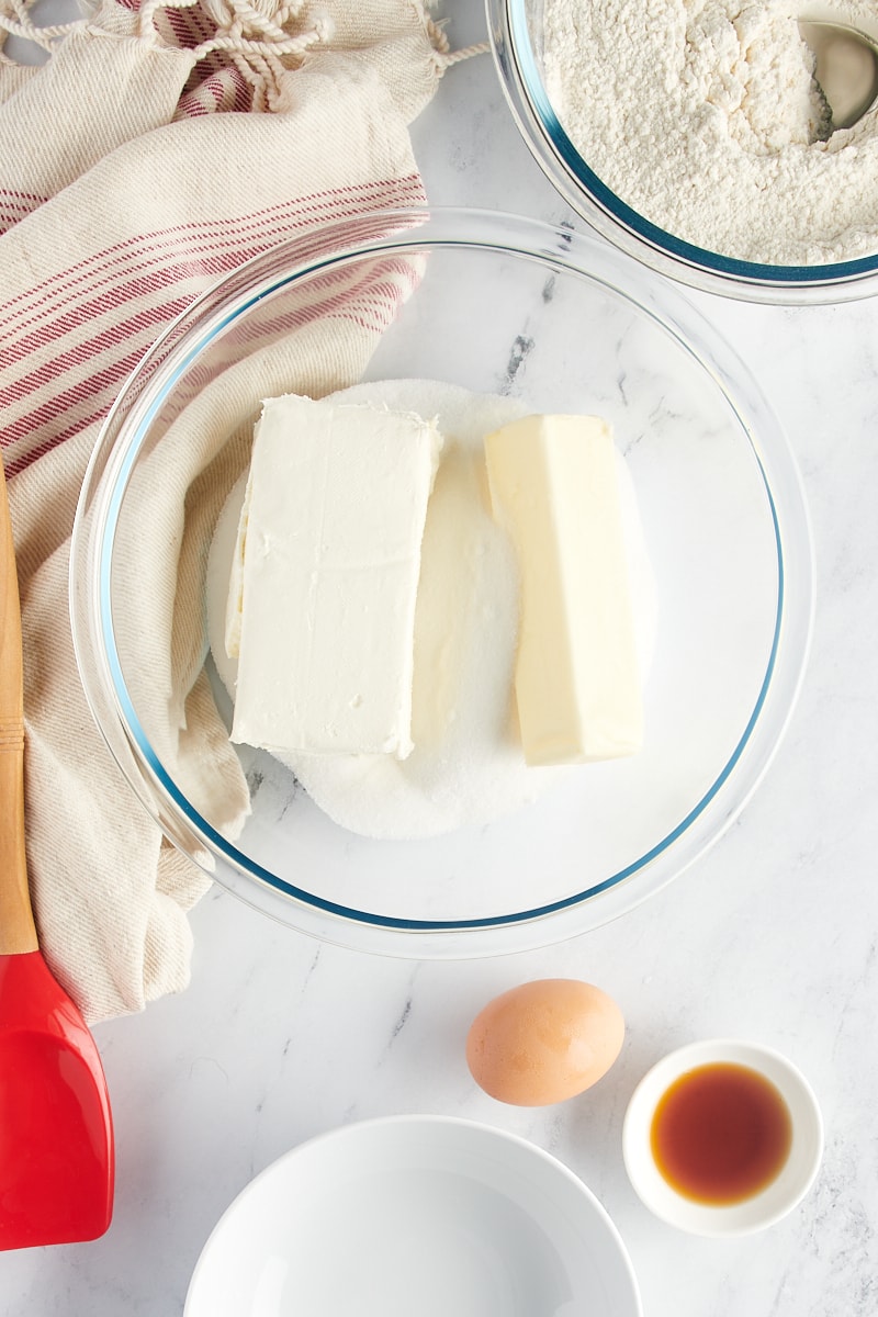
{"label": "wide white block of cream cheese on the sugar", "polygon": [[229,583],[232,740],[412,749],[415,602],[441,436],[380,407],[263,404]]}

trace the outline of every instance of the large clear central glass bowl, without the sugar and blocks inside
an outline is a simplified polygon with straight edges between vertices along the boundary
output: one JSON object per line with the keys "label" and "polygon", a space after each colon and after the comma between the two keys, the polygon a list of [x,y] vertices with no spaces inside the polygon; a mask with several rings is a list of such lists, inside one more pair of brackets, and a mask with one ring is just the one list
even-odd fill
{"label": "large clear central glass bowl, without the sugar and blocks inside", "polygon": [[[498,822],[412,842],[342,830],[278,761],[238,747],[251,813],[233,836],[175,776],[186,730],[142,603],[153,612],[161,594],[176,627],[183,590],[196,598],[188,648],[174,632],[175,657],[183,652],[196,681],[216,515],[194,516],[194,491],[209,481],[213,507],[221,503],[240,470],[226,460],[226,431],[234,420],[249,435],[263,396],[301,389],[305,346],[311,387],[348,382],[337,342],[346,325],[367,320],[362,288],[386,294],[366,381],[445,381],[613,425],[656,579],[646,744],[628,760],[565,770],[540,801]],[[191,408],[216,458],[187,485],[180,473],[190,470],[192,432],[179,421]],[[168,547],[180,552],[170,583],[155,572]],[[255,258],[196,302],[145,357],[104,425],[71,556],[88,702],[167,838],[287,925],[417,957],[570,938],[692,864],[775,752],[803,676],[812,591],[791,449],[729,345],[673,286],[604,244],[473,211],[386,212],[325,227]],[[209,786],[229,752],[229,709],[209,661],[207,670],[225,719],[199,765]]]}

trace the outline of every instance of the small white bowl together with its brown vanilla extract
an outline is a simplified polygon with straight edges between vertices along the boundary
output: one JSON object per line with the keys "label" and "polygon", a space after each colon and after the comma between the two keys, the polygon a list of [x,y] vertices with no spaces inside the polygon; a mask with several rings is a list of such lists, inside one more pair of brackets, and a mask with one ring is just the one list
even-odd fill
{"label": "small white bowl together with its brown vanilla extract", "polygon": [[806,1196],[823,1156],[817,1100],[771,1048],[708,1039],[658,1062],[623,1129],[628,1177],[661,1220],[692,1234],[740,1235]]}

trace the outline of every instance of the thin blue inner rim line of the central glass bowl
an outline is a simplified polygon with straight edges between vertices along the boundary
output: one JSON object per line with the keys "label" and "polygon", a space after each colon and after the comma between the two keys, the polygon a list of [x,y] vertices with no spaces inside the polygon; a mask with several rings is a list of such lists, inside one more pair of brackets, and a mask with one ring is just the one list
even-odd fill
{"label": "thin blue inner rim line of the central glass bowl", "polygon": [[[403,240],[401,242],[395,242],[394,245],[403,248],[413,246],[416,249],[419,246],[421,249],[424,246],[432,246],[438,249],[441,248],[478,249],[479,246],[486,249],[490,246],[490,250],[494,252],[505,252],[507,254],[511,255],[523,254],[520,249],[515,248],[513,245],[504,244],[499,240],[491,245],[479,241],[478,238],[467,238],[467,240],[428,238],[426,241],[421,241],[420,244],[416,240]],[[125,682],[125,676],[122,672],[122,664],[118,655],[118,648],[116,644],[116,631],[113,627],[113,607],[112,607],[112,544],[115,540],[116,527],[118,523],[125,489],[129,477],[132,474],[132,470],[134,468],[140,449],[146,439],[149,425],[153,417],[155,416],[158,408],[161,407],[162,402],[167,396],[168,390],[172,389],[176,381],[183,375],[190,362],[192,362],[219,333],[221,333],[229,324],[237,320],[251,306],[263,300],[265,298],[274,295],[294,279],[311,278],[312,275],[325,271],[332,266],[338,265],[340,262],[345,262],[351,258],[353,259],[362,258],[363,255],[369,255],[369,252],[355,250],[353,253],[349,252],[334,253],[333,255],[326,257],[324,259],[315,259],[307,262],[303,266],[297,266],[292,273],[288,273],[286,275],[274,278],[272,281],[259,284],[254,294],[249,295],[246,299],[241,299],[238,303],[236,303],[233,309],[230,309],[225,315],[217,316],[216,321],[212,323],[208,327],[208,329],[204,333],[201,333],[184,353],[182,353],[179,361],[172,363],[172,369],[168,369],[161,389],[158,390],[155,396],[151,398],[151,400],[145,407],[142,415],[138,419],[136,429],[130,440],[128,441],[125,452],[121,456],[118,468],[113,478],[113,485],[108,495],[107,515],[103,519],[99,552],[97,552],[97,564],[96,564],[97,595],[99,595],[97,612],[103,632],[101,636],[103,651],[109,669],[113,693],[118,705],[118,710],[121,711],[125,719],[129,738],[134,740],[137,749],[140,755],[143,757],[150,772],[159,782],[162,790],[174,802],[176,809],[182,813],[187,823],[194,828],[194,831],[200,838],[204,838],[209,843],[209,846],[237,871],[247,874],[249,877],[259,880],[270,889],[283,893],[286,897],[292,897],[312,909],[321,910],[325,914],[337,915],[348,921],[354,921],[361,925],[371,925],[374,927],[401,930],[409,932],[452,932],[452,931],[527,925],[537,919],[544,919],[548,915],[552,915],[557,911],[583,905],[586,901],[594,898],[599,893],[607,892],[611,888],[616,888],[625,878],[629,878],[634,873],[644,871],[661,855],[666,853],[670,849],[670,847],[684,832],[688,831],[691,824],[704,813],[708,805],[716,798],[716,795],[720,793],[720,790],[728,781],[729,776],[732,774],[735,766],[740,761],[745,748],[750,741],[753,730],[756,728],[756,724],[760,718],[760,712],[762,711],[762,707],[765,705],[769,687],[771,685],[771,677],[774,674],[777,664],[778,647],[781,640],[781,624],[783,619],[783,602],[785,602],[785,562],[783,562],[783,544],[782,544],[775,500],[771,493],[771,486],[765,470],[765,465],[750,436],[750,427],[746,424],[744,416],[740,415],[733,399],[731,398],[725,387],[720,383],[719,387],[724,398],[727,399],[735,416],[741,424],[744,435],[749,440],[750,452],[757,462],[760,477],[765,487],[769,510],[771,514],[771,525],[774,531],[777,568],[778,568],[778,595],[777,595],[777,610],[774,618],[774,632],[771,636],[771,647],[769,652],[765,676],[762,678],[757,699],[754,702],[746,726],[744,727],[744,731],[735,749],[732,751],[728,761],[725,763],[725,765],[723,766],[723,769],[720,770],[720,773],[717,774],[716,780],[712,782],[710,789],[692,806],[692,809],[684,815],[684,818],[674,828],[671,828],[670,832],[667,832],[659,842],[657,842],[653,847],[650,847],[649,851],[641,855],[637,860],[633,860],[631,864],[619,869],[616,873],[612,873],[609,877],[603,878],[600,882],[595,882],[591,886],[586,888],[584,890],[574,893],[573,896],[563,897],[558,901],[553,901],[542,906],[534,906],[527,910],[517,910],[508,914],[498,914],[498,915],[483,915],[474,919],[412,919],[396,915],[382,915],[370,910],[358,910],[354,906],[346,906],[336,901],[329,901],[324,897],[316,896],[312,892],[307,892],[304,888],[299,888],[292,882],[287,882],[284,878],[280,878],[270,869],[266,869],[263,865],[245,856],[237,847],[234,847],[226,838],[224,838],[221,832],[219,832],[211,823],[208,823],[207,819],[204,819],[195,809],[192,809],[192,806],[186,799],[183,793],[179,790],[172,777],[167,773],[159,757],[157,756],[155,751],[153,749],[150,740],[140,722],[133,701],[129,695],[128,685]],[[555,257],[555,259],[559,258]],[[563,261],[561,261],[561,263],[563,263]],[[625,292],[623,288],[615,287],[613,284],[608,283],[600,275],[591,271],[583,271],[578,269],[575,265],[565,267],[570,273],[581,275],[586,273],[592,282],[604,284],[613,294],[623,296],[627,302],[632,302],[631,294]],[[681,337],[679,332],[673,324],[661,320],[654,311],[652,311],[648,306],[644,306],[640,302],[637,303],[637,307],[645,316],[653,320],[662,332],[669,333],[674,338],[677,338],[678,342],[681,342],[681,345],[684,348],[684,350],[691,354],[691,346],[686,342],[684,338]],[[191,309],[192,308],[190,308],[190,311]]]}

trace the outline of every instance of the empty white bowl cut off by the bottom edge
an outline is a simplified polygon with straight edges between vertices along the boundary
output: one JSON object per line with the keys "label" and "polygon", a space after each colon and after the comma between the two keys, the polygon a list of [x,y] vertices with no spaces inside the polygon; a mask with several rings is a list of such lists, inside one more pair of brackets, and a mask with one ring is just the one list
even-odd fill
{"label": "empty white bowl cut off by the bottom edge", "polygon": [[594,1195],[524,1139],[403,1115],[294,1148],[236,1198],[186,1317],[640,1317]]}

